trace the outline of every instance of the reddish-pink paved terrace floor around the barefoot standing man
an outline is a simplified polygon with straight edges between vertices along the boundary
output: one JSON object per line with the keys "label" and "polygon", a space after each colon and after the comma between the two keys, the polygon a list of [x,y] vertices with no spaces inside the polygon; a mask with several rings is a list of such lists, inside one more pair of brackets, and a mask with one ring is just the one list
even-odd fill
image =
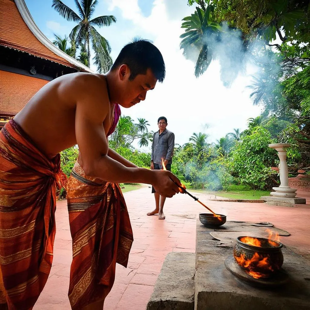
{"label": "reddish-pink paved terrace floor around the barefoot standing man", "polygon": [[[167,253],[195,252],[196,217],[206,210],[185,194],[166,200],[165,220],[147,216],[154,209],[154,196],[148,187],[124,194],[134,232],[128,267],[117,264],[113,289],[105,310],[144,310]],[[307,205],[297,208],[268,206],[262,203],[207,201],[209,195],[198,194],[201,201],[228,220],[268,221],[291,233],[283,237],[286,246],[310,259],[310,192],[298,191]],[[59,201],[56,210],[56,237],[53,266],[47,284],[34,310],[70,309],[69,272],[72,257],[67,202]],[[283,240],[282,239],[282,240]]]}

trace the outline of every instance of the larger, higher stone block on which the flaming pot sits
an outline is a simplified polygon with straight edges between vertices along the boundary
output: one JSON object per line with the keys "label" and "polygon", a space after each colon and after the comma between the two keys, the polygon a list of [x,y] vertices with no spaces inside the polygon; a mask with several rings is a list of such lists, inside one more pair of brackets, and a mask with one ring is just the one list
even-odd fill
{"label": "larger, higher stone block on which the flaming pot sits", "polygon": [[224,261],[232,254],[234,244],[219,244],[210,235],[212,231],[197,220],[195,310],[310,309],[310,263],[307,259],[284,246],[282,267],[290,274],[289,282],[280,288],[257,288],[226,269]]}

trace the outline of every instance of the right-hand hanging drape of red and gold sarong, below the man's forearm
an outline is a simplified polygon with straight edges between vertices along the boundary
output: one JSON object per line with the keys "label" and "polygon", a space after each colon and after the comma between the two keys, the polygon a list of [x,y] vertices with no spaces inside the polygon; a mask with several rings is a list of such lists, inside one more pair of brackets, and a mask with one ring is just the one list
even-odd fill
{"label": "right-hand hanging drape of red and gold sarong, below the man's forearm", "polygon": [[73,250],[68,295],[77,310],[105,299],[116,263],[127,267],[133,236],[119,185],[86,177],[78,162],[68,181],[67,201]]}

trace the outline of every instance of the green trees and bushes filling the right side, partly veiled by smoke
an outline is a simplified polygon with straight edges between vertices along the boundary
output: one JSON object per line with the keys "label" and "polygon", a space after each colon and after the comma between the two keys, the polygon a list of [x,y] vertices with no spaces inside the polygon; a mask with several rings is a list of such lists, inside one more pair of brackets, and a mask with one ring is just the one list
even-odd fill
{"label": "green trees and bushes filling the right side, partly veiled by smoke", "polygon": [[[277,165],[277,157],[268,144],[287,142],[291,144],[288,150],[291,175],[301,167],[309,170],[309,1],[188,0],[188,5],[196,5],[196,8],[190,17],[183,19],[185,33],[181,36],[180,48],[185,57],[197,57],[195,75],[206,71],[210,59],[220,60],[216,46],[220,46],[223,38],[236,38],[237,34],[243,49],[235,53],[233,60],[239,57],[236,63],[255,62],[258,71],[250,81],[250,97],[254,104],[262,107],[261,115],[250,118],[245,131],[234,130],[219,139],[214,145],[216,159],[207,160],[202,166],[211,169],[217,165],[215,174],[222,187],[227,186],[229,178],[226,177],[230,175],[229,182],[235,184],[271,188],[278,182],[277,175],[270,169]],[[208,24],[219,25],[219,31],[204,32],[203,19],[199,16],[207,16]],[[211,54],[200,58],[202,54],[194,54],[194,51],[202,50],[202,42],[207,42],[207,51],[211,50]],[[215,48],[210,49],[210,45]],[[238,50],[238,44],[236,46]],[[220,64],[222,72],[226,65],[221,61]],[[203,70],[197,71],[197,68]],[[230,85],[222,74],[221,79]]]}

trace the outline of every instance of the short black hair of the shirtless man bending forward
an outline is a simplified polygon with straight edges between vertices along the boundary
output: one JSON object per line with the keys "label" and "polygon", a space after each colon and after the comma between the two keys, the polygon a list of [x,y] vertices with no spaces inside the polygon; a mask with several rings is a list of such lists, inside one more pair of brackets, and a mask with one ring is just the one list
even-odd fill
{"label": "short black hair of the shirtless man bending forward", "polygon": [[138,74],[146,74],[147,69],[151,69],[159,82],[162,82],[166,75],[162,54],[149,40],[135,38],[126,44],[114,61],[111,71],[122,64],[126,64],[130,69],[130,81]]}

